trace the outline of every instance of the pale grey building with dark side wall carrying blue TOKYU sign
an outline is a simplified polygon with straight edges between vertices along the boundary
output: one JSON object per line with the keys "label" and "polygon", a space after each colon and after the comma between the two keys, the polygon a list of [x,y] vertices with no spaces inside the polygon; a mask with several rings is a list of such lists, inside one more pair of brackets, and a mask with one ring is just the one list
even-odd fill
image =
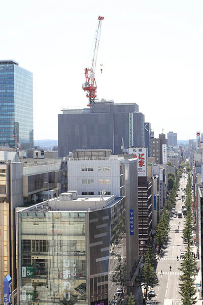
{"label": "pale grey building with dark side wall carrying blue TOKYU sign", "polygon": [[[135,285],[139,269],[138,243],[138,159],[132,155],[111,155],[109,149],[75,150],[66,160],[68,190],[92,197],[101,195],[125,196],[126,205],[126,277],[128,292]],[[63,158],[64,159],[64,158]],[[66,159],[66,158],[65,158]],[[64,164],[64,163],[63,163]],[[65,177],[65,174],[62,176]],[[134,212],[133,243],[130,243],[130,211]],[[132,246],[133,245],[133,246]],[[132,246],[132,247],[131,247]]]}

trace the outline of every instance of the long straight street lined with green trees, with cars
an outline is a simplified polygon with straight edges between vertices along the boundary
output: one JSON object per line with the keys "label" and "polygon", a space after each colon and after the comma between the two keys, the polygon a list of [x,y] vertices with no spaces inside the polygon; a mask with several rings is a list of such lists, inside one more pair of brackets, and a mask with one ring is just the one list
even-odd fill
{"label": "long straight street lined with green trees, with cars", "polygon": [[[186,188],[187,175],[183,174],[183,178],[180,179],[180,191],[178,192],[178,197],[175,209],[180,210],[184,204],[181,200],[181,195],[184,195],[183,191]],[[180,222],[180,224],[179,224]],[[155,287],[156,296],[152,300],[157,301],[158,304],[163,304],[164,299],[173,299],[173,305],[181,304],[181,296],[179,294],[179,276],[182,272],[178,269],[180,267],[180,252],[185,251],[185,246],[183,245],[183,218],[174,218],[170,220],[170,232],[169,240],[166,248],[163,250],[163,254],[158,260],[157,273],[159,285]],[[177,260],[177,256],[179,260]],[[172,271],[170,271],[170,266],[172,266]],[[162,270],[162,275],[161,275]]]}

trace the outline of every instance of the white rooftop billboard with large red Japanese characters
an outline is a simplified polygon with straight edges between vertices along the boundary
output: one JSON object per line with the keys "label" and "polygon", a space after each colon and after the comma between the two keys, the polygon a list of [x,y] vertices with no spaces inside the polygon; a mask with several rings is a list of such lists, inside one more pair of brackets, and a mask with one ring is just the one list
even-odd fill
{"label": "white rooftop billboard with large red Japanese characters", "polygon": [[128,148],[128,154],[133,154],[134,158],[138,158],[138,176],[146,177],[148,174],[147,147]]}

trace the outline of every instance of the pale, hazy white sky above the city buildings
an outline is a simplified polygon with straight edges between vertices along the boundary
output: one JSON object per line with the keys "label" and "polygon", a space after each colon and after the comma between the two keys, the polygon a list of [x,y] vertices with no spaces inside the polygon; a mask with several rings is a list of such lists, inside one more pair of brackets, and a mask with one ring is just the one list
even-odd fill
{"label": "pale, hazy white sky above the city buildings", "polygon": [[61,109],[88,104],[82,83],[99,15],[99,100],[137,103],[155,137],[203,132],[202,13],[201,0],[2,1],[0,59],[33,73],[35,140],[57,139]]}

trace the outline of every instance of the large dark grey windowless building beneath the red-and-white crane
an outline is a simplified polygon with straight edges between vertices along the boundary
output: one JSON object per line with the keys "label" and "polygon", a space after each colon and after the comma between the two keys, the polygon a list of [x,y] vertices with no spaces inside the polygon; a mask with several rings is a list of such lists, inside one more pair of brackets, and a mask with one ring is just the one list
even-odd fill
{"label": "large dark grey windowless building beneath the red-and-white crane", "polygon": [[64,109],[58,114],[58,156],[76,149],[111,149],[121,154],[125,147],[144,146],[144,114],[135,103],[101,101],[90,108]]}

